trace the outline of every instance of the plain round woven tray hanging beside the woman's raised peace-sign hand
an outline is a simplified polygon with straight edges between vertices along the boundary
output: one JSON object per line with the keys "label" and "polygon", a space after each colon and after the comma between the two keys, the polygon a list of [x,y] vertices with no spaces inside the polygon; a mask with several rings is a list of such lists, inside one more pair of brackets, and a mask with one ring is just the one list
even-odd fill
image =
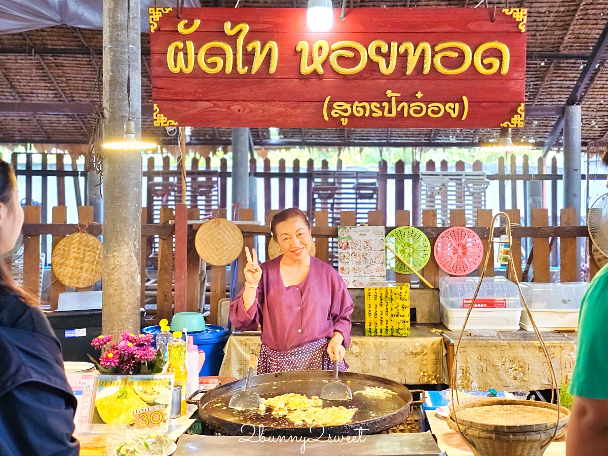
{"label": "plain round woven tray hanging beside the woman's raised peace-sign hand", "polygon": [[226,266],[243,250],[243,233],[225,218],[212,218],[202,224],[194,240],[199,257],[213,266]]}

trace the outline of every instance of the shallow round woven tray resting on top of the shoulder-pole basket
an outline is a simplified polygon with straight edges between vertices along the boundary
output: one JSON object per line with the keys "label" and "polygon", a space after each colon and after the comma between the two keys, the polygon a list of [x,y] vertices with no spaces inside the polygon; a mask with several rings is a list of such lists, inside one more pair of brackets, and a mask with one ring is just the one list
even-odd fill
{"label": "shallow round woven tray resting on top of the shoulder-pole basket", "polygon": [[[541,401],[485,399],[455,407],[458,424],[492,432],[534,432],[555,429],[558,406]],[[454,413],[454,412],[452,412]],[[570,420],[570,410],[560,408],[559,426]]]}

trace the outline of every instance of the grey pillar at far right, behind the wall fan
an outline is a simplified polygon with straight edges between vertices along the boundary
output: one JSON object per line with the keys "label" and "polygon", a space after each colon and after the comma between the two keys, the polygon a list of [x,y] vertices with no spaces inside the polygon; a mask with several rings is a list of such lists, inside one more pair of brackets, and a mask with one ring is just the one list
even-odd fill
{"label": "grey pillar at far right, behind the wall fan", "polygon": [[[581,220],[581,106],[564,110],[564,207],[576,210],[576,224]],[[576,270],[581,272],[582,238],[576,242]]]}

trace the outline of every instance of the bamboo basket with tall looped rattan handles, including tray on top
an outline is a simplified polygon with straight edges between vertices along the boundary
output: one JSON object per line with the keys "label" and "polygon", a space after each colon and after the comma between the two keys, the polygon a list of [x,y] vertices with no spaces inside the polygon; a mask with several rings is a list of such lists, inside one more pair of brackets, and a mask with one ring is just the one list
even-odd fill
{"label": "bamboo basket with tall looped rattan handles, including tray on top", "polygon": [[[506,235],[511,248],[511,221],[504,212],[499,212],[492,218],[489,242],[492,242],[494,238],[494,222],[500,216],[506,219]],[[475,307],[475,299],[477,299],[482,285],[483,276],[488,268],[491,249],[486,250],[485,263],[479,274],[479,282],[460,331],[454,354],[451,373],[452,403],[459,405],[454,406],[452,413],[447,416],[447,425],[460,434],[469,444],[475,456],[542,456],[551,441],[564,434],[565,424],[570,419],[570,410],[559,405],[559,396],[558,404],[517,399],[485,399],[460,404],[458,400],[457,372],[460,343],[465,333],[466,323]],[[513,277],[517,277],[513,255],[510,255],[507,268],[511,268]],[[545,342],[542,340],[541,333],[534,323],[528,304],[519,288],[519,282],[516,282],[516,285],[549,366],[552,387],[551,402],[553,402],[554,392],[558,387],[553,364],[551,364]]]}

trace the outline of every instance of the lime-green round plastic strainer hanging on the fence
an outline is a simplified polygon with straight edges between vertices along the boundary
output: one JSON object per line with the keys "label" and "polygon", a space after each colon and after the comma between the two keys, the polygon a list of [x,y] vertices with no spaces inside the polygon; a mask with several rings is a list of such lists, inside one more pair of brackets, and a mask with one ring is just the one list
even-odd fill
{"label": "lime-green round plastic strainer hanging on the fence", "polygon": [[429,238],[418,228],[412,226],[395,228],[387,234],[385,242],[407,261],[407,264],[403,263],[390,249],[387,249],[386,264],[399,274],[412,274],[412,270],[420,271],[429,261],[431,252]]}

